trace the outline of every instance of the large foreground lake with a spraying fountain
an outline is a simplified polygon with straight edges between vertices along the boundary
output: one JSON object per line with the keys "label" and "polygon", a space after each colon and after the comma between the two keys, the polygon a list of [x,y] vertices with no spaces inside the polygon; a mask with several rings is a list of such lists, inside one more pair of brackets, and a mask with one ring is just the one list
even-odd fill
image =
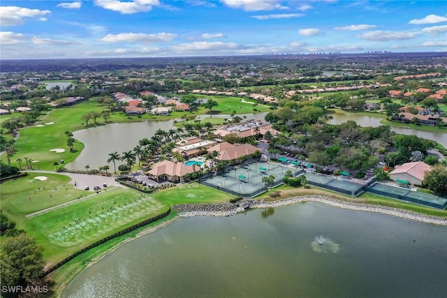
{"label": "large foreground lake with a spraying fountain", "polygon": [[316,202],[182,218],[85,269],[64,297],[445,297],[446,235]]}

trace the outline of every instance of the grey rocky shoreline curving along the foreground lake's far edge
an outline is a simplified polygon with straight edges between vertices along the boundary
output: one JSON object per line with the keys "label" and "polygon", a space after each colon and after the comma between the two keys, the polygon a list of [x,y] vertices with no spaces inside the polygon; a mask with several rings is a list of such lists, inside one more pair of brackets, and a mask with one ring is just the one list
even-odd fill
{"label": "grey rocky shoreline curving along the foreground lake's far edge", "polygon": [[287,198],[284,200],[278,200],[274,202],[268,202],[265,200],[244,199],[236,203],[228,202],[221,204],[177,204],[173,207],[173,210],[177,211],[177,214],[180,217],[233,216],[240,212],[244,212],[247,209],[281,207],[289,204],[297,204],[302,202],[320,202],[323,204],[329,204],[333,207],[339,207],[343,209],[387,214],[391,216],[410,219],[411,221],[431,223],[433,225],[447,225],[447,218],[442,218],[439,216],[419,214],[417,212],[409,210],[397,209],[386,206],[334,200],[322,195],[306,195],[301,197]]}

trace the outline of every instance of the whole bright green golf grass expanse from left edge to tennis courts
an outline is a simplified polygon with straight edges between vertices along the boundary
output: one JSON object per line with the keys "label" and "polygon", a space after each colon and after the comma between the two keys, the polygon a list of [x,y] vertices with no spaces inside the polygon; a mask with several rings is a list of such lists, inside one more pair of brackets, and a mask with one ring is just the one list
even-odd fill
{"label": "whole bright green golf grass expanse from left edge to tennis courts", "polygon": [[[39,176],[47,179],[36,179]],[[74,189],[68,181],[70,178],[61,174],[31,173],[1,184],[1,209],[17,223],[18,229],[26,230],[43,246],[43,257],[50,264],[94,241],[161,214],[173,204],[228,202],[232,198],[200,184],[185,184],[152,195],[121,187],[92,194]],[[82,198],[86,195],[89,197]],[[73,204],[26,217],[65,202]]]}

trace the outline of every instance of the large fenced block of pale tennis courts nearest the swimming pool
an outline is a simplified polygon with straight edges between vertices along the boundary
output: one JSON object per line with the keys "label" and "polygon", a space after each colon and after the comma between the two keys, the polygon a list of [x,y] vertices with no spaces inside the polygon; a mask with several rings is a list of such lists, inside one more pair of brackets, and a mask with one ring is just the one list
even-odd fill
{"label": "large fenced block of pale tennis courts nearest the swimming pool", "polygon": [[263,177],[272,174],[275,181],[274,186],[277,186],[281,184],[287,170],[291,170],[293,173],[298,171],[295,167],[257,161],[243,166],[230,167],[223,173],[200,179],[200,183],[233,195],[252,197],[265,191]]}

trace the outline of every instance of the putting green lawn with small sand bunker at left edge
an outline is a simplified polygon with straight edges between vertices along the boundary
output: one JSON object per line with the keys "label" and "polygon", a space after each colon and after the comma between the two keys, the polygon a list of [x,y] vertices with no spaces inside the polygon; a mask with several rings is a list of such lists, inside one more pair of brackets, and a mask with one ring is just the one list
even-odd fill
{"label": "putting green lawn with small sand bunker at left edge", "polygon": [[[47,177],[47,180],[34,179],[38,176]],[[1,209],[22,227],[27,214],[91,194],[73,188],[68,184],[70,180],[70,177],[61,174],[31,172],[27,177],[5,181],[1,184]]]}

